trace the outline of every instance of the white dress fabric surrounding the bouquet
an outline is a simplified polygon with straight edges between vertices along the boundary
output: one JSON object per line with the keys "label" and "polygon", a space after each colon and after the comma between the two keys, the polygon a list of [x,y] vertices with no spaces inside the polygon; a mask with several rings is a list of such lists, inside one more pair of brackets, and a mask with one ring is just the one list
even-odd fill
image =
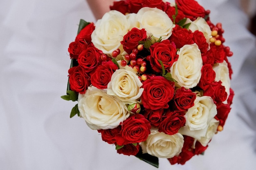
{"label": "white dress fabric surrounding the bouquet", "polygon": [[[224,131],[204,156],[184,166],[159,159],[159,170],[254,170],[256,167],[256,51],[237,1],[199,0],[222,22],[234,75],[234,104]],[[0,169],[156,170],[119,155],[61,99],[67,86],[67,48],[80,18],[95,22],[85,0],[1,0]]]}

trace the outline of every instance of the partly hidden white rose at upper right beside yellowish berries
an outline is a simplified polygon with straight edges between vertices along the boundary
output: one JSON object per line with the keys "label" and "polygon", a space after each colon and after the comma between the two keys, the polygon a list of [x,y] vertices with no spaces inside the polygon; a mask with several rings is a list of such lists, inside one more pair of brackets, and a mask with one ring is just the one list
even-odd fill
{"label": "partly hidden white rose at upper right beside yellowish berries", "polygon": [[210,38],[212,38],[211,35],[211,28],[210,26],[207,24],[207,22],[204,20],[204,18],[198,17],[196,20],[191,21],[189,18],[187,18],[186,20],[186,24],[187,23],[191,23],[189,25],[189,29],[192,32],[195,32],[196,30],[201,31],[202,33],[204,33],[204,37],[206,39],[206,41],[209,43],[210,42]]}

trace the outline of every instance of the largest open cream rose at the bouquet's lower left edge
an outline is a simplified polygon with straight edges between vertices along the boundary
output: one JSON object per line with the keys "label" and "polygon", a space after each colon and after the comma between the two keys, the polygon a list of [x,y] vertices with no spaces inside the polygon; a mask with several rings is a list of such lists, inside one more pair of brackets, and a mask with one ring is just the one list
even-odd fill
{"label": "largest open cream rose at the bouquet's lower left edge", "polygon": [[94,86],[88,87],[84,95],[78,96],[80,117],[93,130],[113,129],[129,117],[124,102]]}

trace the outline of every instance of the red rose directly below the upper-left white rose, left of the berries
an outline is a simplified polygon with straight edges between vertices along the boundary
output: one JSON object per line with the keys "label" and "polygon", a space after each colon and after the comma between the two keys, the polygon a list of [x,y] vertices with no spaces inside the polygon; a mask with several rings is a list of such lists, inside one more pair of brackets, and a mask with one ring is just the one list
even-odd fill
{"label": "red rose directly below the upper-left white rose, left of the berries", "polygon": [[94,46],[88,46],[78,56],[78,64],[84,68],[86,73],[90,73],[99,64],[100,53]]}

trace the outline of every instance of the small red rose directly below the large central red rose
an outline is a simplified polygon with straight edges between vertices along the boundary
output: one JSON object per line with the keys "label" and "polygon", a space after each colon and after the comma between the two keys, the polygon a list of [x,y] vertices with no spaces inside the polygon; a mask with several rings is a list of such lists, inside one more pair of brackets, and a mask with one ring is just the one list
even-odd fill
{"label": "small red rose directly below the large central red rose", "polygon": [[164,114],[164,109],[158,109],[158,110],[146,109],[144,113],[144,117],[148,119],[150,124],[158,127],[160,122],[162,121],[163,114]]}

